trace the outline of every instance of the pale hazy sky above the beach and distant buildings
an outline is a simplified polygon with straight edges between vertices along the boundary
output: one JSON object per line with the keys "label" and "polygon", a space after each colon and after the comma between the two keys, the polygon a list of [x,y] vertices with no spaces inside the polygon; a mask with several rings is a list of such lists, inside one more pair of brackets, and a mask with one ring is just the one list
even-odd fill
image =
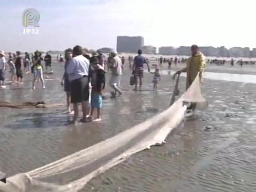
{"label": "pale hazy sky above the beach and distant buildings", "polygon": [[[116,48],[116,37],[145,45],[256,47],[255,0],[0,0],[0,50]],[[39,34],[23,34],[22,12],[40,13]],[[33,26],[27,28],[34,29]]]}

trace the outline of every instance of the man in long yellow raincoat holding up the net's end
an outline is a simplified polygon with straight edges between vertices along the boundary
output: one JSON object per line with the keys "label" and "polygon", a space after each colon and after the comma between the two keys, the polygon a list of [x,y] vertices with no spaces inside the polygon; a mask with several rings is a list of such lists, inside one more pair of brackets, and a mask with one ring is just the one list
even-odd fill
{"label": "man in long yellow raincoat holding up the net's end", "polygon": [[[182,72],[187,73],[186,77],[186,90],[190,87],[192,82],[195,80],[198,72],[199,72],[199,79],[200,83],[203,83],[203,73],[205,70],[205,57],[202,52],[199,51],[197,45],[191,46],[191,53],[192,56],[188,58],[186,67],[177,71],[175,74],[180,74]],[[191,103],[187,112],[194,111],[196,109],[196,103]]]}

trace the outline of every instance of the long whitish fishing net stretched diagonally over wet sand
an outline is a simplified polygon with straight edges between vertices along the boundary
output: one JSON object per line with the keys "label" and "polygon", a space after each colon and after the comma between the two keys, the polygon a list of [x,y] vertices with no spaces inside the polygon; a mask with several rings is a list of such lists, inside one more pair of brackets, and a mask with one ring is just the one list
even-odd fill
{"label": "long whitish fishing net stretched diagonally over wet sand", "polygon": [[126,160],[132,154],[164,143],[171,130],[184,118],[186,111],[184,98],[197,102],[203,99],[198,89],[200,83],[197,77],[191,87],[166,111],[56,162],[12,176],[7,179],[6,184],[0,184],[0,191],[76,192],[81,190],[90,179]]}

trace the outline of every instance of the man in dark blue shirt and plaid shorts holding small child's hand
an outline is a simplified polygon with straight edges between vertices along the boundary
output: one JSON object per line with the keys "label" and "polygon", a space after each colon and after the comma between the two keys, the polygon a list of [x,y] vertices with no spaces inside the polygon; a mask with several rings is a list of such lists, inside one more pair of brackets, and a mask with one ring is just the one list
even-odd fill
{"label": "man in dark blue shirt and plaid shorts holding small child's hand", "polygon": [[142,50],[138,50],[138,55],[134,57],[134,63],[132,66],[132,73],[134,74],[135,77],[135,88],[134,90],[137,90],[137,86],[138,86],[138,78],[140,81],[140,90],[142,87],[142,78],[143,78],[143,72],[144,72],[144,63],[147,64],[148,66],[148,71],[150,71],[150,67],[148,65],[148,62],[146,61],[146,59],[144,58],[144,56],[142,56]]}

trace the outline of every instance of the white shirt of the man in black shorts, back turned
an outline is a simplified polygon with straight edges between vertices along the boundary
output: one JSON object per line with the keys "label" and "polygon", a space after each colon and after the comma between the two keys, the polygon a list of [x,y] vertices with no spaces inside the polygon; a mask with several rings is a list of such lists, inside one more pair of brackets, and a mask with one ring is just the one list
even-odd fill
{"label": "white shirt of the man in black shorts, back turned", "polygon": [[82,55],[70,59],[66,69],[69,81],[88,76],[89,66],[89,60]]}

